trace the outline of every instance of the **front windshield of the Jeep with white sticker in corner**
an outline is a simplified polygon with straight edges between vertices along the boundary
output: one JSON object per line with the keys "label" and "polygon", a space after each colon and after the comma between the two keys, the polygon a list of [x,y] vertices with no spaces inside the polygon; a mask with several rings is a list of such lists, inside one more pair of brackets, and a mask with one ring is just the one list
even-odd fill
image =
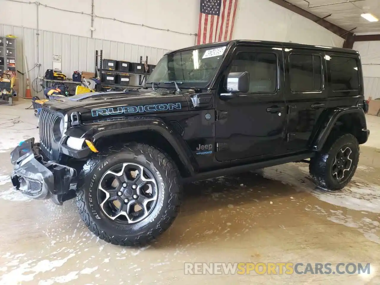
{"label": "front windshield of the Jeep with white sticker in corner", "polygon": [[215,74],[225,49],[226,46],[208,47],[164,55],[146,84],[160,82],[161,87],[165,82],[176,81],[183,84],[180,88],[205,87]]}

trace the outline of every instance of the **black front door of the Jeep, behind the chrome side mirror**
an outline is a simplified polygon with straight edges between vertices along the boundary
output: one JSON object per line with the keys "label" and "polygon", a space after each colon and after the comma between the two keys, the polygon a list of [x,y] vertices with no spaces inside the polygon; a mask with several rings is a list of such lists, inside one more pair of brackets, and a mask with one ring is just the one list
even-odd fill
{"label": "black front door of the Jeep, behind the chrome side mirror", "polygon": [[[230,72],[248,71],[249,92],[222,100]],[[238,46],[220,82],[215,105],[218,161],[254,160],[277,152],[285,137],[281,47]]]}

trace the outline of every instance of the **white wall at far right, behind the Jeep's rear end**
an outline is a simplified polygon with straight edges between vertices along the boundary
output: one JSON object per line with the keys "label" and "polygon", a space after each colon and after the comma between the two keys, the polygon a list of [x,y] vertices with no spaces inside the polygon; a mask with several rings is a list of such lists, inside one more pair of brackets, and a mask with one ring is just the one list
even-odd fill
{"label": "white wall at far right, behind the Jeep's rear end", "polygon": [[359,51],[364,76],[364,94],[366,99],[380,97],[380,41],[357,41],[354,43]]}

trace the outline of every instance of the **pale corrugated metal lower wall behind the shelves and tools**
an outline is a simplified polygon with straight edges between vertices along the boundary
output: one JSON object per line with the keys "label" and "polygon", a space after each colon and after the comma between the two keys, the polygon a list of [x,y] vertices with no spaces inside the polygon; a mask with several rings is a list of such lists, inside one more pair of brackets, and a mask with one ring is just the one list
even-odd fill
{"label": "pale corrugated metal lower wall behind the shelves and tools", "polygon": [[[76,70],[94,72],[95,50],[103,49],[103,59],[125,60],[129,62],[139,62],[140,56],[143,59],[148,56],[149,64],[157,64],[162,55],[168,52],[166,49],[155,47],[40,30],[40,52],[39,59],[37,60],[35,29],[0,24],[0,35],[9,34],[17,36],[17,70],[21,72],[26,71],[24,67],[24,55],[27,57],[28,70],[32,69],[38,61],[41,63],[40,74],[38,74],[38,68],[34,68],[29,72],[30,84],[33,79],[43,76],[47,69],[52,68],[53,54],[61,55],[62,73],[71,78],[73,71]],[[23,80],[21,74],[17,74],[17,76],[20,77],[20,93],[24,95],[26,76],[24,76]],[[36,89],[36,86],[34,86],[34,89]],[[41,90],[41,86],[38,86],[38,90]],[[35,95],[33,90],[32,95]]]}

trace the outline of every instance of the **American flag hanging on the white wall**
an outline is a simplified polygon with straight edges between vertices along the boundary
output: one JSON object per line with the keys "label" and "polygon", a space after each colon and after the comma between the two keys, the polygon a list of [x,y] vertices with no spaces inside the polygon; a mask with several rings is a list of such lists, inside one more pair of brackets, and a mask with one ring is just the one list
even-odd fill
{"label": "American flag hanging on the white wall", "polygon": [[232,39],[238,0],[201,0],[197,44]]}

